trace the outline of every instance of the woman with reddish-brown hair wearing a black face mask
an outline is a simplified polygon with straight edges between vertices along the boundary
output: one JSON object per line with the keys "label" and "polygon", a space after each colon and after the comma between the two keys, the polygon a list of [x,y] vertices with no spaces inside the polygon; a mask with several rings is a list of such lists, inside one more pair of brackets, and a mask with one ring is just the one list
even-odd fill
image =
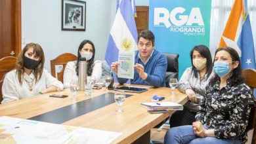
{"label": "woman with reddish-brown hair wearing a black face mask", "polygon": [[15,69],[5,75],[1,103],[63,90],[62,82],[43,68],[44,63],[45,55],[41,46],[27,44],[18,56]]}

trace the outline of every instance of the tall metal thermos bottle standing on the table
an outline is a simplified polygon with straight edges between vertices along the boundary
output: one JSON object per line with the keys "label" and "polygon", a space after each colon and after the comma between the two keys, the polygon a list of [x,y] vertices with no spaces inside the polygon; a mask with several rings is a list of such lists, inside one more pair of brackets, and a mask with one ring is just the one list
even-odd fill
{"label": "tall metal thermos bottle standing on the table", "polygon": [[87,62],[85,58],[80,58],[79,70],[78,70],[79,91],[85,90],[86,76],[87,76]]}

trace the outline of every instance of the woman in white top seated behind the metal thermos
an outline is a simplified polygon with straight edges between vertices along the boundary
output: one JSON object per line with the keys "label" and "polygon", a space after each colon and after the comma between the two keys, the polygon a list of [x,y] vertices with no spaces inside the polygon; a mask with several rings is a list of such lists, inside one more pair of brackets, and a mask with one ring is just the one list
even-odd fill
{"label": "woman in white top seated behind the metal thermos", "polygon": [[64,71],[64,88],[70,86],[70,82],[78,82],[78,69],[80,58],[87,61],[87,76],[95,77],[95,81],[100,80],[102,74],[102,62],[95,60],[95,45],[89,40],[84,40],[78,47],[77,60],[68,62]]}

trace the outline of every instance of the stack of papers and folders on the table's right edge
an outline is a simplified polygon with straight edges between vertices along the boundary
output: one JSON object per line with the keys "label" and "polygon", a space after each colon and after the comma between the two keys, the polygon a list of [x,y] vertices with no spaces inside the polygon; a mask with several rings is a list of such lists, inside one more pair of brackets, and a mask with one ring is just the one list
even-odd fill
{"label": "stack of papers and folders on the table's right edge", "polygon": [[183,106],[179,103],[173,103],[171,101],[163,101],[163,102],[150,102],[150,103],[140,103],[141,105],[147,107],[150,110],[163,111],[163,110],[176,110],[182,111]]}

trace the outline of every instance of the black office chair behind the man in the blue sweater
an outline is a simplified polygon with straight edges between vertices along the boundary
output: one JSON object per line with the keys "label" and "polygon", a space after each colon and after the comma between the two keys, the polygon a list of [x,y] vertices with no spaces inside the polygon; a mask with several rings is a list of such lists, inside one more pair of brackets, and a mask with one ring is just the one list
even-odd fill
{"label": "black office chair behind the man in the blue sweater", "polygon": [[169,86],[169,79],[179,78],[179,54],[163,53],[167,58],[167,71],[165,73],[165,84]]}

